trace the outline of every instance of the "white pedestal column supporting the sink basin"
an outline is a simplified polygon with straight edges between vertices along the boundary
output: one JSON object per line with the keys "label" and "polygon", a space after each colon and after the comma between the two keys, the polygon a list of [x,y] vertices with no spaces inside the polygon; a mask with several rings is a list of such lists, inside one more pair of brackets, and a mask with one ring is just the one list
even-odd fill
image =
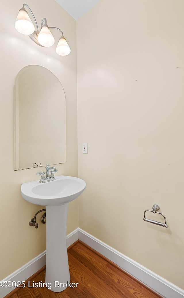
{"label": "white pedestal column supporting the sink basin", "polygon": [[70,282],[66,246],[67,214],[68,203],[60,206],[46,206],[45,282],[51,283],[53,292],[65,290],[66,284]]}

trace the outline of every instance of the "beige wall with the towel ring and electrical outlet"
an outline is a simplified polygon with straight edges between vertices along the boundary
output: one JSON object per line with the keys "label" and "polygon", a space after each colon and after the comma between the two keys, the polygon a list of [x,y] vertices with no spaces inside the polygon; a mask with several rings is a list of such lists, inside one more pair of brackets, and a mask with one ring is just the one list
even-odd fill
{"label": "beige wall with the towel ring and electrical outlet", "polygon": [[[183,0],[101,0],[77,21],[79,227],[180,288],[183,11]],[[143,221],[153,204],[168,229]]]}

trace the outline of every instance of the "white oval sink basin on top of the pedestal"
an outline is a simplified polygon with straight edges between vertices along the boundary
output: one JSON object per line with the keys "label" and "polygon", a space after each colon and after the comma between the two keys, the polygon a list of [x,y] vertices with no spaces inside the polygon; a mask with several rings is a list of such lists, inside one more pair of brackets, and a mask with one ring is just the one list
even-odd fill
{"label": "white oval sink basin on top of the pedestal", "polygon": [[46,183],[32,181],[21,185],[22,197],[36,205],[62,205],[73,201],[85,189],[85,182],[77,177],[56,176]]}

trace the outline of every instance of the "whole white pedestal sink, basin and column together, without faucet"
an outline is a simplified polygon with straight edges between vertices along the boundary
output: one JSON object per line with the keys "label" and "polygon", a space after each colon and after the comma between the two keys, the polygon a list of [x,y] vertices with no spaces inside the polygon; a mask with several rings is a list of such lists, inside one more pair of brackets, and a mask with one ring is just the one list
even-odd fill
{"label": "whole white pedestal sink, basin and column together, without faucet", "polygon": [[32,204],[46,206],[45,282],[51,283],[52,291],[61,292],[70,282],[66,246],[68,203],[83,192],[86,184],[71,176],[56,176],[55,179],[46,183],[23,183],[21,195]]}

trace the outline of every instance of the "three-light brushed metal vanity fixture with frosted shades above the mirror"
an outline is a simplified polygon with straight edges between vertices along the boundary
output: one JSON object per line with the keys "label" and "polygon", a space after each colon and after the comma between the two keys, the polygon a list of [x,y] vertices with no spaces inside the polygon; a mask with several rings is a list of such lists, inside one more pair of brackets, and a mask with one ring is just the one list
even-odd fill
{"label": "three-light brushed metal vanity fixture with frosted shades above the mirror", "polygon": [[[35,30],[34,24],[32,23],[31,19],[29,18],[29,15],[28,15],[25,7],[27,7],[29,9],[30,13],[32,14],[32,17],[33,17],[33,19],[35,21],[35,25],[36,25],[36,30]],[[54,40],[54,36],[52,35],[50,29],[57,29],[61,32],[61,37],[60,37],[59,42],[56,47],[56,53],[60,56],[66,56],[66,55],[69,55],[71,52],[71,49],[68,46],[67,41],[63,36],[63,32],[57,27],[49,27],[47,25],[46,18],[43,18],[43,20],[41,22],[41,29],[39,32],[38,24],[36,22],[35,16],[32,13],[29,6],[25,3],[23,4],[23,7],[18,12],[18,16],[15,21],[15,28],[18,32],[28,35],[36,44],[38,44],[39,46],[43,46],[43,47],[53,46],[55,40]]]}

